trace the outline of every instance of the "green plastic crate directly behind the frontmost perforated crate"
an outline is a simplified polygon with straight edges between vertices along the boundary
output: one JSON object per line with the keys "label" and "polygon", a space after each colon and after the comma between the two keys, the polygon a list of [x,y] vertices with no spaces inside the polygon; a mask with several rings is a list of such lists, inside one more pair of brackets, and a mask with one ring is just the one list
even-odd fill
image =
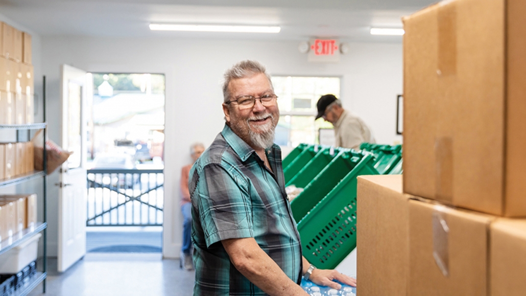
{"label": "green plastic crate directly behind the frontmost perforated crate", "polygon": [[[372,161],[372,156],[369,153],[367,155]],[[341,149],[338,155],[305,186],[304,191],[290,202],[294,220],[299,222],[304,218],[324,196],[354,169],[364,156],[365,154],[350,149]]]}

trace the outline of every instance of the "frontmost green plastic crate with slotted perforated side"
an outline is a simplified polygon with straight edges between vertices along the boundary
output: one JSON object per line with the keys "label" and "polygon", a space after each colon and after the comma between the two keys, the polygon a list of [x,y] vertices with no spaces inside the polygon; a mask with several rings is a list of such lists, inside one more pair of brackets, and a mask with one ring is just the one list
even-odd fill
{"label": "frontmost green plastic crate with slotted perforated side", "polygon": [[334,269],[356,248],[356,177],[378,174],[373,163],[362,157],[298,223],[303,255],[317,268]]}

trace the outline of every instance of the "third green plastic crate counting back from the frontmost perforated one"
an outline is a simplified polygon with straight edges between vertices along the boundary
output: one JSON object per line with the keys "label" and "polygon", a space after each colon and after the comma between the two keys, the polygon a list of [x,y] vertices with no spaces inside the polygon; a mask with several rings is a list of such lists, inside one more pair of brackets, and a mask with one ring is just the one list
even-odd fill
{"label": "third green plastic crate counting back from the frontmost perforated one", "polygon": [[286,186],[295,185],[305,188],[339,153],[334,147],[323,147],[320,153],[312,159],[286,183]]}

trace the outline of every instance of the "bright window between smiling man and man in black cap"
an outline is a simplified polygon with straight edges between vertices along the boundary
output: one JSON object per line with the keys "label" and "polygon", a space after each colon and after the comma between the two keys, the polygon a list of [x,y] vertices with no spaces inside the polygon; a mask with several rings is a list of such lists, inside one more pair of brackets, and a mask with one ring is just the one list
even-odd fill
{"label": "bright window between smiling man and man in black cap", "polygon": [[274,76],[272,84],[280,111],[276,144],[296,147],[300,143],[318,143],[319,129],[332,129],[329,122],[314,120],[316,103],[325,94],[340,96],[339,77]]}

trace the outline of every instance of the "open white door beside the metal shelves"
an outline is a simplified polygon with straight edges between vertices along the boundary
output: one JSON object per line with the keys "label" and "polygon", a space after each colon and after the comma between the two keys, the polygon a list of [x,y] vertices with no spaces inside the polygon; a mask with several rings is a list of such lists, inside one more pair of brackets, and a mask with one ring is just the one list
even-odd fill
{"label": "open white door beside the metal shelves", "polygon": [[73,154],[62,165],[58,190],[58,271],[66,271],[86,254],[86,116],[90,93],[85,71],[62,65],[62,147]]}

